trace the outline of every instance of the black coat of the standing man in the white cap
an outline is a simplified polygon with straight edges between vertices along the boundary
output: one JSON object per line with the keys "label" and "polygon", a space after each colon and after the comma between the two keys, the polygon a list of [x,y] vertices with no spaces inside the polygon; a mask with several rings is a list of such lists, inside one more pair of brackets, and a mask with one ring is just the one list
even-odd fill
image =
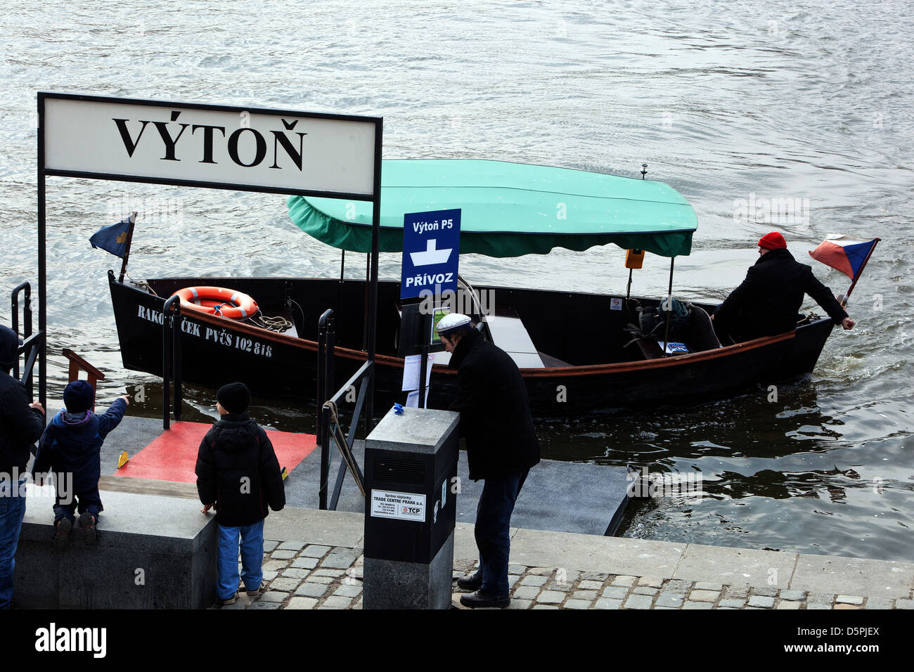
{"label": "black coat of the standing man in the white cap", "polygon": [[457,369],[461,434],[470,478],[505,475],[539,462],[539,441],[526,386],[514,360],[478,332],[461,338],[449,364]]}

